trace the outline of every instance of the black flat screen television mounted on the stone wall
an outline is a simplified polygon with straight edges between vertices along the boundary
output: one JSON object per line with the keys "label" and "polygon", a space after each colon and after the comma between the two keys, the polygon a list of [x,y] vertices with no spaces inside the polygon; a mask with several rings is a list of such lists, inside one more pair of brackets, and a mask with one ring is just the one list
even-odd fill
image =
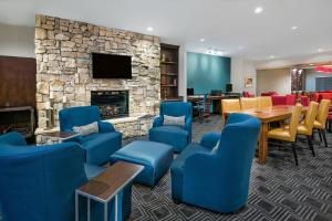
{"label": "black flat screen television mounted on the stone wall", "polygon": [[132,56],[92,53],[93,78],[132,78]]}

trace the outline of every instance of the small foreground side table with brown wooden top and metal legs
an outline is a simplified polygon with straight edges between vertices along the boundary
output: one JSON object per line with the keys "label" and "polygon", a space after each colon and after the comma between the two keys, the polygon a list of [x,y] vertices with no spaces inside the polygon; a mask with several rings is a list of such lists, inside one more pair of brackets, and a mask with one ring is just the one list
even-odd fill
{"label": "small foreground side table with brown wooden top and metal legs", "polygon": [[108,220],[108,202],[115,198],[115,221],[117,217],[118,197],[117,193],[129,183],[142,170],[144,166],[125,161],[118,161],[108,167],[103,173],[91,179],[75,191],[75,220],[79,221],[79,196],[87,198],[87,220],[90,221],[90,200],[95,200],[104,204],[104,220]]}

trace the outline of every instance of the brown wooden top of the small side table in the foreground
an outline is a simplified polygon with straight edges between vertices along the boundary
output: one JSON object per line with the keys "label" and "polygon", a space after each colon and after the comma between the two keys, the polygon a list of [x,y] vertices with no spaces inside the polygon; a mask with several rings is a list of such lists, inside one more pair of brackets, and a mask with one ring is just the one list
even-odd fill
{"label": "brown wooden top of the small side table in the foreground", "polygon": [[76,192],[103,203],[108,202],[143,169],[142,165],[118,161],[76,189]]}

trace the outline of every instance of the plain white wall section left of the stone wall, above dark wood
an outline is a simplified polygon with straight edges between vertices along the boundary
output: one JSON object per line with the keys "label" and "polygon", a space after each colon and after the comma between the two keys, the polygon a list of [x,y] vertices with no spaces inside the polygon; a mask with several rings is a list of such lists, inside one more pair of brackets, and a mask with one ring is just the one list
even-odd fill
{"label": "plain white wall section left of the stone wall, above dark wood", "polygon": [[34,28],[0,23],[0,55],[34,57]]}

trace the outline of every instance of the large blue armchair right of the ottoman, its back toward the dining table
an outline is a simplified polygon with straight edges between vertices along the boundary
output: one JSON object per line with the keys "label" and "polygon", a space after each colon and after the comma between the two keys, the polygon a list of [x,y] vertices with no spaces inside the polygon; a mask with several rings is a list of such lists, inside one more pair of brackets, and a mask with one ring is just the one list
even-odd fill
{"label": "large blue armchair right of the ottoman, its back toward the dining table", "polygon": [[170,166],[173,199],[216,212],[242,208],[260,127],[256,117],[231,114],[221,134],[208,133],[200,144],[190,144]]}

